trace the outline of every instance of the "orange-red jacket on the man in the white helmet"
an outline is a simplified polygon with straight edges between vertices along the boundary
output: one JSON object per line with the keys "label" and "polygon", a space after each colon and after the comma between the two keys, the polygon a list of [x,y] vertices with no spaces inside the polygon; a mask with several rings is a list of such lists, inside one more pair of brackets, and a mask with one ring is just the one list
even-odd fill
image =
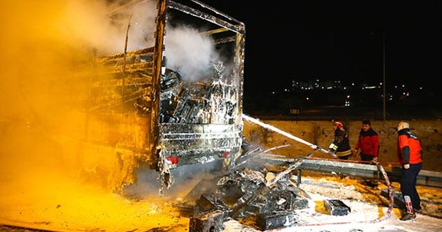
{"label": "orange-red jacket on the man in the white helmet", "polygon": [[422,162],[421,141],[410,131],[410,128],[403,128],[398,131],[397,153],[401,164],[419,164]]}

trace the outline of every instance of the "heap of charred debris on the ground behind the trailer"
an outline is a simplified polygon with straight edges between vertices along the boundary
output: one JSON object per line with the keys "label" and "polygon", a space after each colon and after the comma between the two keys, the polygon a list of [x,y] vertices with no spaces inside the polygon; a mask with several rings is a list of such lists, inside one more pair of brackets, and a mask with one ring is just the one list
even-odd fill
{"label": "heap of charred debris on the ground behind the trailer", "polygon": [[[197,184],[193,191],[205,189],[206,192],[195,200],[189,230],[218,228],[216,225],[229,218],[254,222],[262,231],[296,226],[296,210],[309,207],[309,196],[299,194],[304,192],[291,182],[289,173],[268,186],[269,174],[266,168],[245,167],[215,177],[211,182],[204,181],[205,185],[215,184],[215,189]],[[195,197],[195,193],[191,191],[189,196]]]}

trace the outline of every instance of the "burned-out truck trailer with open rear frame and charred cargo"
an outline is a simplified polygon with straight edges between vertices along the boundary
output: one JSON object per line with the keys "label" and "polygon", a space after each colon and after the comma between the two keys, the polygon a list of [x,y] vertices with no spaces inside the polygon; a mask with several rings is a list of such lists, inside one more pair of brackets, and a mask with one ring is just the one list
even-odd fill
{"label": "burned-out truck trailer with open rear frame and charred cargo", "polygon": [[129,1],[109,17],[126,20],[124,49],[95,58],[84,148],[117,157],[112,182],[135,182],[145,162],[169,186],[171,168],[240,154],[244,23],[193,0]]}

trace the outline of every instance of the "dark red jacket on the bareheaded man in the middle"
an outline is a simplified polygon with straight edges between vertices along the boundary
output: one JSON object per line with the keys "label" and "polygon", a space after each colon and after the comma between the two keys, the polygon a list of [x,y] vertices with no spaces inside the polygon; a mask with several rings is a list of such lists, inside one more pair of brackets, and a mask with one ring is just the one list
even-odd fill
{"label": "dark red jacket on the bareheaded man in the middle", "polygon": [[361,154],[378,157],[379,135],[373,130],[373,128],[369,128],[368,131],[361,129],[355,149],[358,150],[359,148],[361,148]]}

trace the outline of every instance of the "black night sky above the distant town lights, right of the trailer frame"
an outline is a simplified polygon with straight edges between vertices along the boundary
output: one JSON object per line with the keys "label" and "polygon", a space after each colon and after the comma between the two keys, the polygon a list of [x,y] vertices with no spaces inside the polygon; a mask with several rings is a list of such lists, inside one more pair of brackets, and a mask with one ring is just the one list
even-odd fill
{"label": "black night sky above the distant town lights, right of the trailer frame", "polygon": [[245,23],[246,93],[287,88],[294,78],[381,82],[383,44],[387,86],[441,78],[441,3],[202,2]]}

